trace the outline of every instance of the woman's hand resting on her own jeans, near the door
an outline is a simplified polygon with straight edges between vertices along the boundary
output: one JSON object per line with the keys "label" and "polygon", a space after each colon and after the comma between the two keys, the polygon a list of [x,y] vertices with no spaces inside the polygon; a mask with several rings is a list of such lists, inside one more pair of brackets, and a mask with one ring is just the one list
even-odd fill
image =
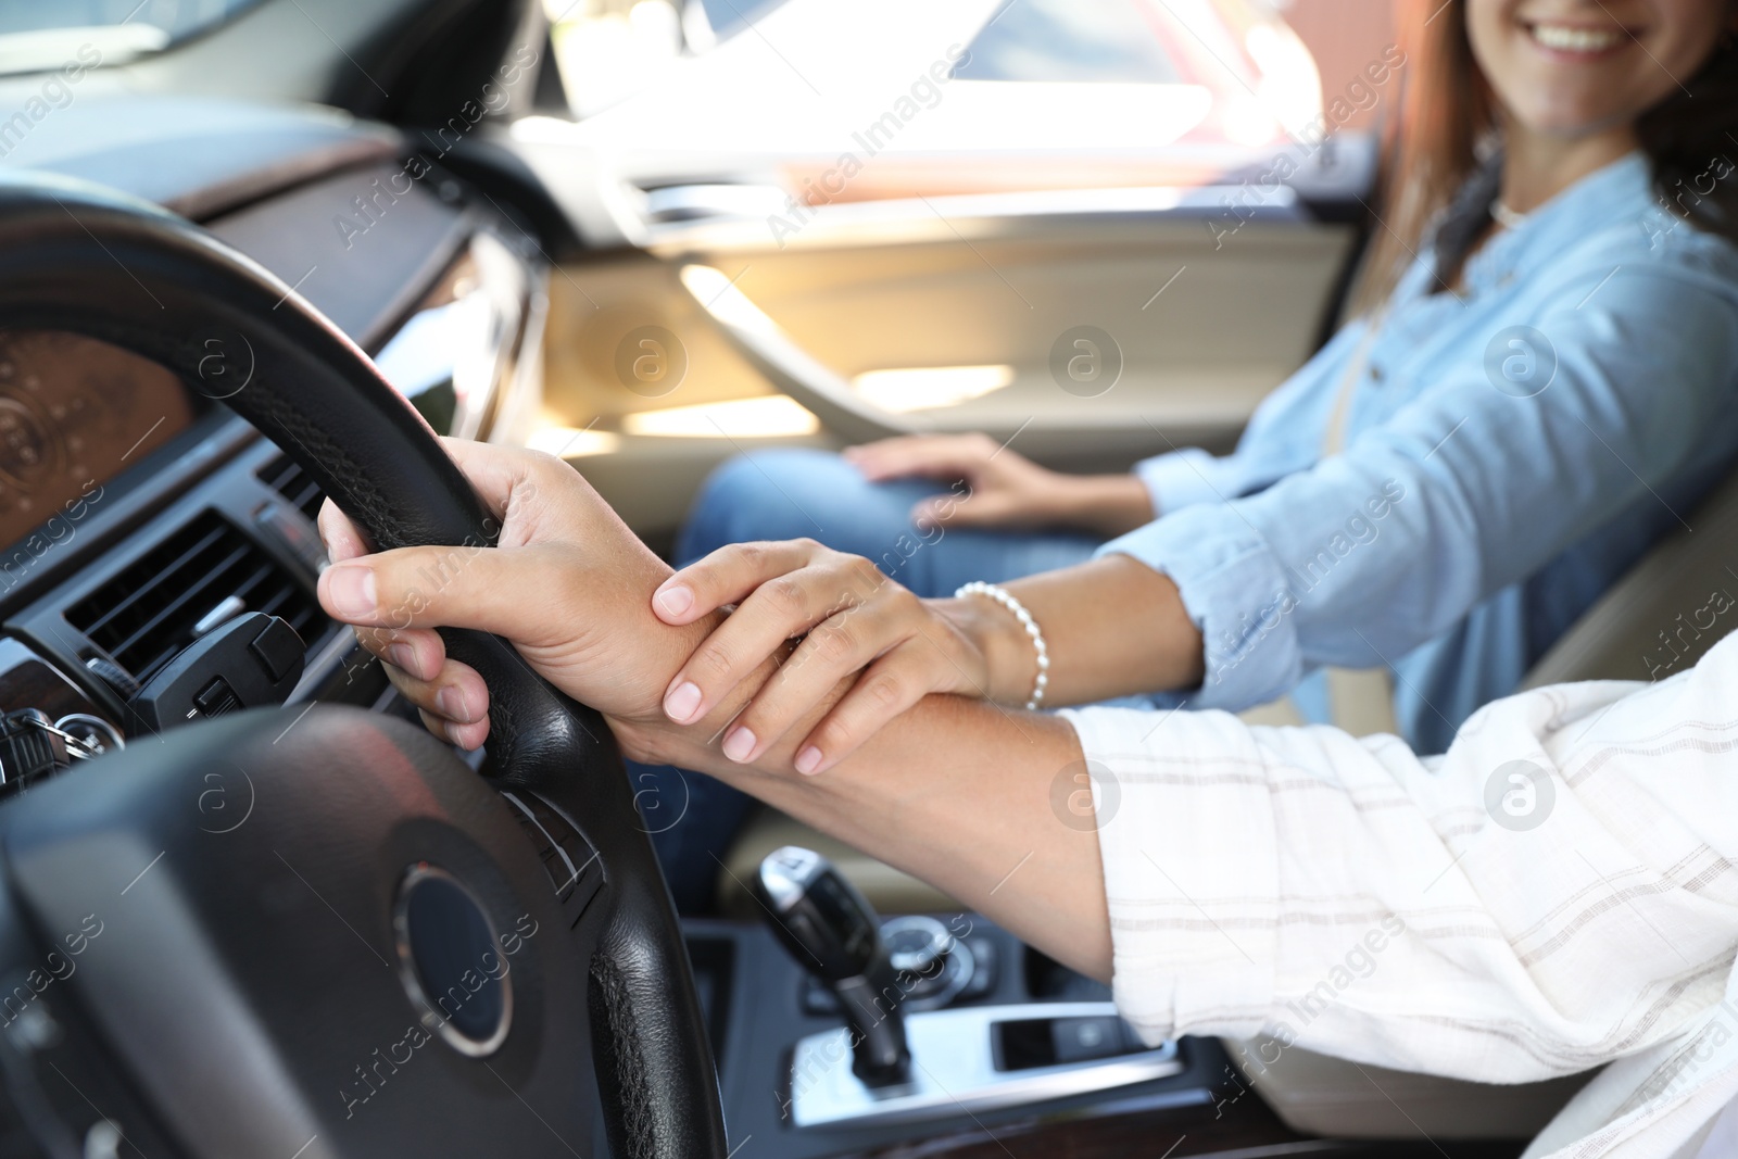
{"label": "woman's hand resting on her own jeans, near the door", "polygon": [[914,521],[944,527],[1079,527],[1121,535],[1152,521],[1152,499],[1133,474],[1062,474],[987,434],[909,434],[845,452],[864,478],[965,480],[965,497],[935,495]]}

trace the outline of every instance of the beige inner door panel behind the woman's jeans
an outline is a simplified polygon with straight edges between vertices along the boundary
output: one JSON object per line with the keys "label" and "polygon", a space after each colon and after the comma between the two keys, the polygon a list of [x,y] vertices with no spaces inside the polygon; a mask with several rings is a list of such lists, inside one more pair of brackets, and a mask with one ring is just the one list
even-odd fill
{"label": "beige inner door panel behind the woman's jeans", "polygon": [[[582,469],[652,537],[680,523],[692,485],[726,455],[827,445],[819,429],[758,436],[732,431],[723,415],[718,433],[692,438],[622,431],[631,414],[772,389],[681,292],[681,268],[700,262],[845,379],[1010,368],[1001,389],[909,412],[919,429],[1017,436],[1022,454],[1058,467],[1128,466],[1171,445],[1227,450],[1317,344],[1356,235],[1297,205],[1269,205],[1227,229],[1213,198],[1180,200],[1159,189],[829,207],[782,247],[763,221],[657,226],[645,252],[554,278],[547,419],[619,436],[608,462],[593,457]],[[687,370],[667,389],[622,377],[620,344],[647,327],[681,348]],[[1109,335],[1105,356],[1121,363],[1109,386],[1053,372],[1051,354],[1076,327]]]}

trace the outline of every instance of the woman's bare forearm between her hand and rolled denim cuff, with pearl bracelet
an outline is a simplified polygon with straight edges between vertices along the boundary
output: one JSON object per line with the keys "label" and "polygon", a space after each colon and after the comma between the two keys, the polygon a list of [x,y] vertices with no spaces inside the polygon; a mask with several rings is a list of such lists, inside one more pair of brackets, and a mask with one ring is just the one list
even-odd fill
{"label": "woman's bare forearm between her hand and rolled denim cuff, with pearl bracelet", "polygon": [[[1045,632],[1045,707],[1194,688],[1203,676],[1201,631],[1177,584],[1130,556],[1104,556],[1006,584]],[[985,697],[1024,704],[1038,653],[1013,615],[984,598],[935,601],[984,652]]]}

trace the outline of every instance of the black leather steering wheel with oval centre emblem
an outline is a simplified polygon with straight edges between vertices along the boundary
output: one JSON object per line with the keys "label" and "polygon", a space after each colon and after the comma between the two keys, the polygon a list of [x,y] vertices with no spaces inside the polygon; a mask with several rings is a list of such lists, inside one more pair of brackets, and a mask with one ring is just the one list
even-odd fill
{"label": "black leather steering wheel with oval centre emblem", "polygon": [[[193,384],[229,358],[205,393],[375,547],[494,544],[348,337],[153,205],[0,182],[0,327]],[[535,1159],[591,1154],[600,1119],[615,1156],[725,1156],[681,930],[607,725],[504,639],[443,634],[490,688],[487,780],[403,721],[316,705],[139,737],[0,808],[0,1065],[42,1149],[108,1154],[68,1128],[96,1114],[89,1131],[153,1157]]]}

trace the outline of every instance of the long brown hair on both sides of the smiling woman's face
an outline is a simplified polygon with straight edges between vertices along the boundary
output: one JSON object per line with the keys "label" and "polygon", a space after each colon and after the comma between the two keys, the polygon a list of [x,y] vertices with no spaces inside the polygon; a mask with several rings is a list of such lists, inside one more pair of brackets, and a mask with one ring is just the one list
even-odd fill
{"label": "long brown hair on both sides of the smiling woman's face", "polygon": [[[1467,0],[1411,0],[1401,10],[1408,76],[1383,148],[1382,221],[1359,271],[1352,313],[1371,313],[1455,193],[1479,169],[1496,97],[1472,56]],[[1738,240],[1738,38],[1726,35],[1695,76],[1635,118],[1662,209]],[[1712,188],[1710,188],[1712,186]],[[1637,226],[1639,228],[1639,226]],[[1443,273],[1449,273],[1443,269]]]}

